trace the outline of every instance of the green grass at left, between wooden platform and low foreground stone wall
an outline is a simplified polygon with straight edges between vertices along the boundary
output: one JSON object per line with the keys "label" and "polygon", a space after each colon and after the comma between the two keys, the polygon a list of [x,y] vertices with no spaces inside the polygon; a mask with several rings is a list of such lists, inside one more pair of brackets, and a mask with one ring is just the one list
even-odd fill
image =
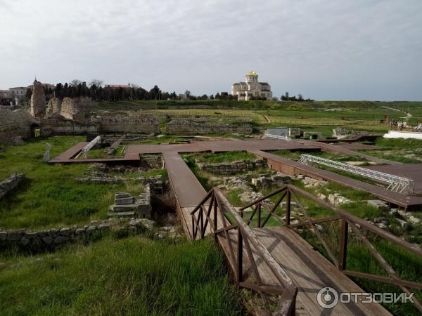
{"label": "green grass at left, between wooden platform and low foreground stone wall", "polygon": [[[27,180],[0,201],[1,228],[44,229],[107,217],[114,193],[142,191],[134,181],[119,184],[79,183],[87,164],[49,165],[42,160],[44,145],[52,145],[51,157],[84,140],[82,137],[53,137],[6,147],[0,152],[0,180],[11,173],[25,173]],[[155,173],[165,173],[157,171]],[[146,173],[150,175],[150,173]],[[141,176],[141,174],[139,174]]]}

